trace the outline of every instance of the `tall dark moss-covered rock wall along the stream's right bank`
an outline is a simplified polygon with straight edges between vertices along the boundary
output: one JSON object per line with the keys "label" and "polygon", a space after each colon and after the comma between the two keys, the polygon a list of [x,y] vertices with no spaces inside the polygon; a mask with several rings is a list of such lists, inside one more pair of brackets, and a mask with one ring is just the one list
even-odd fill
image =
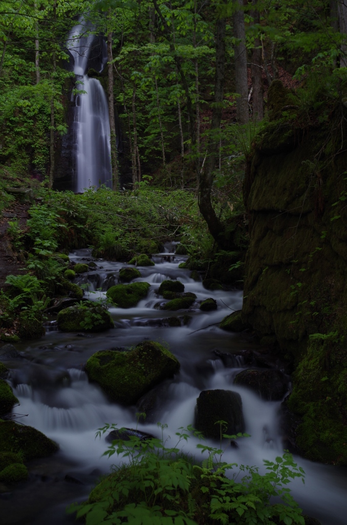
{"label": "tall dark moss-covered rock wall along the stream's right bank", "polygon": [[306,457],[347,464],[347,151],[341,127],[270,122],[246,180],[242,320],[294,363]]}

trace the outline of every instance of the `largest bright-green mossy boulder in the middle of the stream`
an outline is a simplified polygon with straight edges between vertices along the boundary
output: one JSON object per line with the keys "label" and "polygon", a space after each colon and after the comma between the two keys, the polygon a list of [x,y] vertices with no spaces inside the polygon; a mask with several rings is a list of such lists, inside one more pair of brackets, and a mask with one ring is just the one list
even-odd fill
{"label": "largest bright-green mossy boulder in the middle of the stream", "polygon": [[177,373],[179,367],[175,355],[164,346],[144,341],[128,352],[96,352],[85,370],[113,401],[132,405],[154,385]]}

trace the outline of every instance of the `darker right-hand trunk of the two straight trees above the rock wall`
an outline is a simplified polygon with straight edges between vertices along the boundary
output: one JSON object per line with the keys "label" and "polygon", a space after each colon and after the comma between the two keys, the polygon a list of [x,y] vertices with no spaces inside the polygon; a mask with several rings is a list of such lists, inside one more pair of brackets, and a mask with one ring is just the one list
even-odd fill
{"label": "darker right-hand trunk of the two straight trees above the rock wall", "polygon": [[[252,4],[255,6],[257,0],[253,0]],[[252,10],[251,13],[255,24],[260,22],[260,14],[258,9]],[[254,47],[252,50],[252,64],[251,64],[251,76],[252,76],[252,87],[253,87],[253,120],[254,122],[262,120],[264,117],[263,110],[263,79],[262,79],[262,52],[261,52],[261,41],[259,38],[254,39]]]}

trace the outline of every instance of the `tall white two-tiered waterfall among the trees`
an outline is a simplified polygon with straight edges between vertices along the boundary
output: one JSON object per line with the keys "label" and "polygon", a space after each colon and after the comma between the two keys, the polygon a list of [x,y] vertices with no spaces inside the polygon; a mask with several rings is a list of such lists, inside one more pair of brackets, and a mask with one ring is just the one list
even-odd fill
{"label": "tall white two-tiered waterfall among the trees", "polygon": [[[67,47],[74,58],[73,71],[77,88],[85,91],[75,97],[73,121],[74,189],[83,192],[90,186],[101,184],[112,187],[111,144],[109,108],[105,92],[99,80],[86,75],[95,35],[93,26],[80,18],[79,24],[70,31]],[[101,72],[107,62],[105,49],[100,49]]]}

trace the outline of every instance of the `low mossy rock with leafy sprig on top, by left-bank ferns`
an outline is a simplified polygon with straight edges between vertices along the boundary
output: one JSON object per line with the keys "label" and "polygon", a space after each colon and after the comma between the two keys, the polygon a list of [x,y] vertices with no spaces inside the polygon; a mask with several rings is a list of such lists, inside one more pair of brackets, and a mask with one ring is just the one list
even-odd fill
{"label": "low mossy rock with leafy sprig on top, by left-bank ferns", "polygon": [[100,304],[92,301],[84,302],[83,306],[74,304],[58,312],[58,328],[63,332],[103,332],[114,328],[114,323],[109,312],[106,312]]}

